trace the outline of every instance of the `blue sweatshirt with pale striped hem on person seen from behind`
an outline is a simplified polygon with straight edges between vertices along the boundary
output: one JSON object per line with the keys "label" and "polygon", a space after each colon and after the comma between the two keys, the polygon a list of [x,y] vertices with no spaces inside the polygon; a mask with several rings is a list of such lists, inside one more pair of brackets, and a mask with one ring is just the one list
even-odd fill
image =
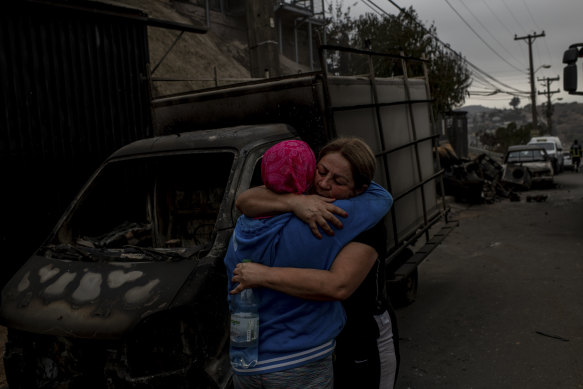
{"label": "blue sweatshirt with pale striped hem on person seen from behind", "polygon": [[[381,220],[392,202],[391,195],[374,182],[358,196],[337,200],[334,204],[348,213],[344,228],[334,228],[334,236],[323,234],[322,239],[291,213],[266,219],[241,216],[225,257],[229,290],[233,270],[243,259],[267,266],[330,269],[340,250]],[[267,288],[256,291],[260,296],[258,363],[234,369],[235,374],[287,370],[332,353],[346,321],[339,301],[306,300]]]}

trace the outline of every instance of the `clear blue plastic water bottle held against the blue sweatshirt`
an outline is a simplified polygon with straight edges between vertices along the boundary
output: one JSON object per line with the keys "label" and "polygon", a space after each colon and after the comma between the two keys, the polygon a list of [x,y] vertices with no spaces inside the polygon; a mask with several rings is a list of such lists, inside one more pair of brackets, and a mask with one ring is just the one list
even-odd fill
{"label": "clear blue plastic water bottle held against the blue sweatshirt", "polygon": [[[244,261],[247,262],[247,261]],[[259,298],[253,289],[231,296],[231,365],[248,369],[257,364]]]}

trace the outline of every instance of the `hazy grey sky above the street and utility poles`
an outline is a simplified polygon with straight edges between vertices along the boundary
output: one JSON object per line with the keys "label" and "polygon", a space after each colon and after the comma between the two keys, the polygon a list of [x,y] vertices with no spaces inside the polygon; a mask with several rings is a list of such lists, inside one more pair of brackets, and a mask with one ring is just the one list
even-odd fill
{"label": "hazy grey sky above the street and utility poles", "polygon": [[[562,98],[561,102],[583,103],[583,96],[563,92],[562,63],[563,52],[569,45],[583,43],[583,0],[393,0],[392,3],[401,8],[412,6],[425,26],[435,25],[442,42],[479,68],[481,72],[476,72],[480,79],[474,79],[471,96],[465,105],[511,108],[509,94],[481,96],[496,88],[511,90],[507,86],[528,93],[519,96],[521,107],[530,104],[528,40],[514,38],[540,35],[543,31],[545,36],[534,39],[532,44],[533,68],[538,69],[535,73],[537,92],[560,90],[551,95],[552,102]],[[351,7],[353,14],[381,12],[374,5],[396,14],[398,9],[392,3],[388,0],[343,2],[345,8]],[[545,69],[541,65],[551,67]],[[577,65],[579,90],[583,90],[583,58]],[[537,81],[557,76],[559,80],[551,82],[548,89],[546,82]],[[537,93],[536,101],[537,105],[546,102],[547,96]]]}

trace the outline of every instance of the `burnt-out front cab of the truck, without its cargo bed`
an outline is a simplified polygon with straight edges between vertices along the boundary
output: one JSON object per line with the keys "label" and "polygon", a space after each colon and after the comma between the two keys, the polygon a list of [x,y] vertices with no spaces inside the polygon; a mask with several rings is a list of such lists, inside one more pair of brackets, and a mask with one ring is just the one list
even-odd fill
{"label": "burnt-out front cab of the truck, without its cargo bed", "polygon": [[293,136],[236,127],[114,153],[3,290],[10,388],[228,387],[235,196]]}

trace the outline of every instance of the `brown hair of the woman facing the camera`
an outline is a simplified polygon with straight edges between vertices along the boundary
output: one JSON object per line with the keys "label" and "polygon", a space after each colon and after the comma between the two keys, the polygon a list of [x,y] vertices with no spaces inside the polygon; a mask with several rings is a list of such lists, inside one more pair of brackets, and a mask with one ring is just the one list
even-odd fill
{"label": "brown hair of the woman facing the camera", "polygon": [[354,189],[359,190],[370,184],[377,164],[374,153],[363,140],[354,137],[336,138],[320,150],[318,159],[330,153],[339,153],[350,163]]}

